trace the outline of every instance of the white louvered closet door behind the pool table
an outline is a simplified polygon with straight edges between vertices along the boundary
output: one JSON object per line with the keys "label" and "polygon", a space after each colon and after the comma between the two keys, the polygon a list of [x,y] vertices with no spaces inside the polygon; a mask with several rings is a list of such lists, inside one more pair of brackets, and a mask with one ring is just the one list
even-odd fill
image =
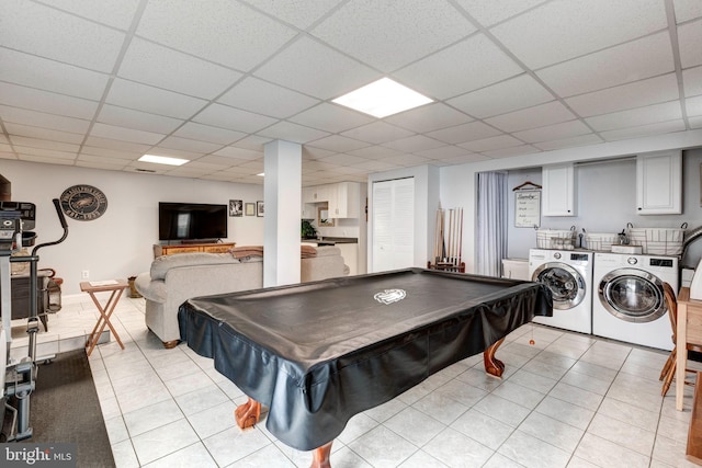
{"label": "white louvered closet door behind the pool table", "polygon": [[415,264],[415,179],[373,183],[373,272]]}

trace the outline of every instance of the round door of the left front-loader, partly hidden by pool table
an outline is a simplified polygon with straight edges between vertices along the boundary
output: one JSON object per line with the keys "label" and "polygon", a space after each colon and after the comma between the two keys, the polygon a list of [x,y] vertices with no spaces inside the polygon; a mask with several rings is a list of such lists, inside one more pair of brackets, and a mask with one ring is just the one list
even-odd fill
{"label": "round door of the left front-loader, partly hidden by pool table", "polygon": [[587,293],[582,275],[565,263],[544,263],[534,271],[532,279],[548,286],[554,309],[573,309]]}

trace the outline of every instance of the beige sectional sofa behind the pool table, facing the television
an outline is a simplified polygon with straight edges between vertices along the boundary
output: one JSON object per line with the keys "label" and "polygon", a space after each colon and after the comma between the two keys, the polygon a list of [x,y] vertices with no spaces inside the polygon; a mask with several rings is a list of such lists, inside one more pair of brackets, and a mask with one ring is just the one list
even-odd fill
{"label": "beige sectional sofa behind the pool table, facing the television", "polygon": [[[137,275],[134,285],[146,299],[146,326],[173,347],[180,340],[178,309],[185,300],[213,294],[263,287],[263,258],[246,255],[246,248],[231,253],[177,253],[159,256],[149,272]],[[246,255],[246,256],[244,256]],[[349,274],[338,247],[306,247],[301,258],[303,283]]]}

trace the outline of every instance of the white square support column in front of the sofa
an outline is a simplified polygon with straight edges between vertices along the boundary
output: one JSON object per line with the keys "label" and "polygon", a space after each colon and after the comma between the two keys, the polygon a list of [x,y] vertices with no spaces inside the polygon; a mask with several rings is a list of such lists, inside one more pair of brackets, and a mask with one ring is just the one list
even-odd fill
{"label": "white square support column in front of the sofa", "polygon": [[299,144],[274,140],[263,150],[263,287],[299,283]]}

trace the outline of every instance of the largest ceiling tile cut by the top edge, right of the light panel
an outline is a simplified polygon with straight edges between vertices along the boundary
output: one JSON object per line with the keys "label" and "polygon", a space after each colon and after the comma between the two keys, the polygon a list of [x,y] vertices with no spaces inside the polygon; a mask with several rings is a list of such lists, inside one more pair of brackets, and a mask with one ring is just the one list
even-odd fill
{"label": "largest ceiling tile cut by the top edge, right of the light panel", "polygon": [[541,68],[666,27],[665,4],[658,0],[563,0],[490,32],[528,67]]}

